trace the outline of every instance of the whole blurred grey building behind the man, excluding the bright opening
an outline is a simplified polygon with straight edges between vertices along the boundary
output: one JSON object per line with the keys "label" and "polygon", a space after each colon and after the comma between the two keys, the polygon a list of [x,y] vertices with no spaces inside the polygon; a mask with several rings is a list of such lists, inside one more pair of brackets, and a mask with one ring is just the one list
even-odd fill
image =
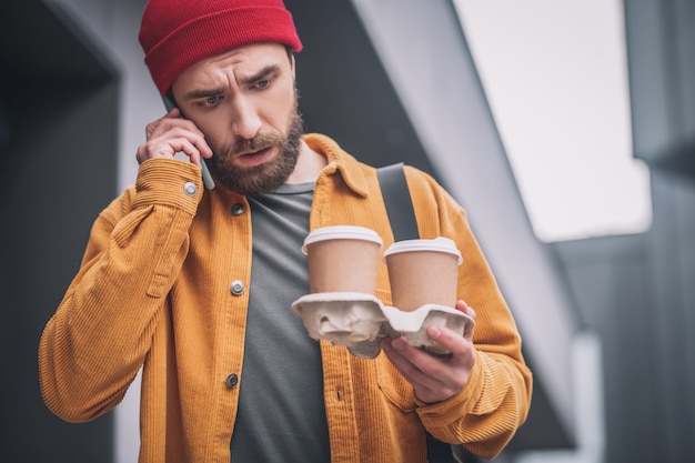
{"label": "whole blurred grey building behind the man, excluding the bright opening", "polygon": [[[528,422],[497,461],[695,461],[695,3],[618,2],[648,227],[562,241],[534,232],[473,31],[461,26],[465,1],[285,3],[305,47],[309,130],[374,165],[431,172],[470,213],[536,379]],[[163,113],[137,41],[143,6],[0,3],[3,462],[137,459],[138,384],[114,412],[64,423],[42,403],[37,345],[93,219],[134,180],[144,125]],[[557,143],[558,155],[576,142]]]}

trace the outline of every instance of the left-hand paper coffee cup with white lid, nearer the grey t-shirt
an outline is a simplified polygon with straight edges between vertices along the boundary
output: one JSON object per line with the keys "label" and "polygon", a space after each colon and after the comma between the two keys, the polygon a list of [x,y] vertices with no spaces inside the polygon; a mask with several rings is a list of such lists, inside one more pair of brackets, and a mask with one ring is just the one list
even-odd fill
{"label": "left-hand paper coffee cup with white lid, nearer the grey t-shirt", "polygon": [[309,290],[374,294],[383,241],[371,229],[324,227],[306,235],[302,252],[309,266]]}

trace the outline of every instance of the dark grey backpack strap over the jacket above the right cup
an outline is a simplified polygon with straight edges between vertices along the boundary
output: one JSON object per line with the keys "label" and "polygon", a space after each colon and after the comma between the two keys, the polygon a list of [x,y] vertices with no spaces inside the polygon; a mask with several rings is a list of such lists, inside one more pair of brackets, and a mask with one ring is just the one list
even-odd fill
{"label": "dark grey backpack strap over the jacket above the right cup", "polygon": [[403,172],[403,163],[399,162],[379,168],[376,173],[394,240],[403,241],[420,238],[411,192],[405,181],[405,172]]}

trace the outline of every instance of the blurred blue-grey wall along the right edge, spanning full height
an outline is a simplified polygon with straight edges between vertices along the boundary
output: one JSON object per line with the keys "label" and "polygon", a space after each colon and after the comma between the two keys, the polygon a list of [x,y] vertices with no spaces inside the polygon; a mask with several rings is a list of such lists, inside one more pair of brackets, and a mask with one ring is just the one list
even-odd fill
{"label": "blurred blue-grey wall along the right edge, spanning full height", "polygon": [[695,461],[695,3],[625,1],[634,152],[652,172],[642,235],[558,243],[604,345],[606,462]]}

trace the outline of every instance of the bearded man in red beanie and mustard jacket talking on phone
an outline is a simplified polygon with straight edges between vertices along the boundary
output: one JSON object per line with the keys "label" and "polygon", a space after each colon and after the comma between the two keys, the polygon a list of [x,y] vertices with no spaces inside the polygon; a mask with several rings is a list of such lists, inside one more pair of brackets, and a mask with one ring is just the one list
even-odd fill
{"label": "bearded man in red beanie and mustard jacket talking on phone", "polygon": [[[290,311],[309,291],[306,233],[367,227],[385,246],[393,234],[375,170],[302,134],[291,14],[281,0],[151,0],[140,41],[178,108],[147,127],[135,184],[94,222],[46,326],[49,409],[92,420],[142,368],[140,462],[425,462],[427,432],[497,454],[532,379],[464,211],[406,169],[420,233],[455,241],[459,296],[475,308],[456,305],[475,334],[427,331],[449,358],[403,339],[373,360],[311,340]],[[391,302],[384,265],[376,295]]]}

